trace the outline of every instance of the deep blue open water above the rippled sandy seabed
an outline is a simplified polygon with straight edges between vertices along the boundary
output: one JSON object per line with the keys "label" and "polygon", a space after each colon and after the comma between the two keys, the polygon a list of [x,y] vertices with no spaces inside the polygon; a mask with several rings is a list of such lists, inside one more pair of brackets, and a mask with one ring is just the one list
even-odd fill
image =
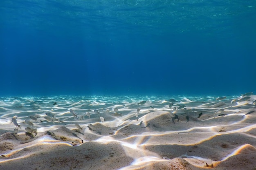
{"label": "deep blue open water above the rippled sandy seabed", "polygon": [[255,0],[1,0],[0,95],[256,91]]}

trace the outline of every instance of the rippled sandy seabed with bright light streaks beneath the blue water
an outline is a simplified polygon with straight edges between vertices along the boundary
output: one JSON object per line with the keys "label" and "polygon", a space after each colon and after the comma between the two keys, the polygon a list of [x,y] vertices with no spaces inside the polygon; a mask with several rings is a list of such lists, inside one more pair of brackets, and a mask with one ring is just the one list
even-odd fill
{"label": "rippled sandy seabed with bright light streaks beneath the blue water", "polygon": [[255,100],[2,97],[0,170],[256,170]]}

